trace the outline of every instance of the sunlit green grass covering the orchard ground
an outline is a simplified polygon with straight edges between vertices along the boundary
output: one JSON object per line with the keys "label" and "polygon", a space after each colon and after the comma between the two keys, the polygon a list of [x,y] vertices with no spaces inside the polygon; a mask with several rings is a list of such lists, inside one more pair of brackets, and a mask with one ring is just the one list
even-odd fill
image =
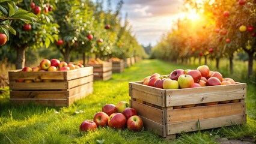
{"label": "sunlit green grass covering the orchard ground", "polygon": [[[143,80],[153,73],[169,74],[177,68],[195,69],[198,65],[170,64],[158,60],[144,60],[126,68],[124,73],[113,74],[106,82],[95,81],[94,92],[69,107],[46,107],[34,104],[13,106],[9,104],[8,88],[0,94],[0,143],[216,143],[219,137],[256,141],[256,92],[255,85],[248,84],[246,108],[248,121],[213,130],[178,134],[175,140],[165,140],[153,131],[132,132],[98,128],[79,133],[85,119],[93,119],[106,103],[129,101],[129,82]],[[224,66],[225,67],[225,66]],[[221,69],[223,70],[223,69]],[[226,74],[226,73],[224,73]]]}

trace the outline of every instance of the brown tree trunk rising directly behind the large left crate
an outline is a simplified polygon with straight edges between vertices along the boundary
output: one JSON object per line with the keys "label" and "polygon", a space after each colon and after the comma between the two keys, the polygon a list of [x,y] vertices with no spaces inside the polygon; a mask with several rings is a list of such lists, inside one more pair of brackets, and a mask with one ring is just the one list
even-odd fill
{"label": "brown tree trunk rising directly behind the large left crate", "polygon": [[17,57],[16,57],[16,69],[21,69],[25,67],[25,52],[26,47],[16,47]]}

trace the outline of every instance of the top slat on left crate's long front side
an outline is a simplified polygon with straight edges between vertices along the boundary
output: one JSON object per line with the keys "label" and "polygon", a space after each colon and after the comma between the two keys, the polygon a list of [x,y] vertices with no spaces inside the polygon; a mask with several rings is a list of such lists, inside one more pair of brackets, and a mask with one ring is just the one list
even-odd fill
{"label": "top slat on left crate's long front side", "polygon": [[67,72],[66,71],[21,71],[21,70],[14,70],[8,71],[9,79],[16,80],[16,79],[54,79],[54,80],[67,80]]}

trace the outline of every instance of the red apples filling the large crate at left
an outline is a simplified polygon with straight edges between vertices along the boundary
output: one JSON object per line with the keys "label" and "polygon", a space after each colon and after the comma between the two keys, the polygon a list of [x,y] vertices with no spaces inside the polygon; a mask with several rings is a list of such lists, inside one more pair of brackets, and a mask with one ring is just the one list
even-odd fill
{"label": "red apples filling the large crate at left", "polygon": [[[81,63],[72,64],[65,61],[59,61],[59,59],[43,59],[37,67],[24,67],[22,71],[67,71],[75,70],[78,68],[84,67]],[[41,79],[34,80],[17,80],[17,82],[41,82]]]}

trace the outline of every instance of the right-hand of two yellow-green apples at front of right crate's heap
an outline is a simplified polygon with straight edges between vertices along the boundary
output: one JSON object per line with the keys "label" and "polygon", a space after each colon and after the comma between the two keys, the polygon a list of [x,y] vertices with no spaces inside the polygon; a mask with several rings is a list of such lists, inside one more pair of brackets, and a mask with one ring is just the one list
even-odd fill
{"label": "right-hand of two yellow-green apples at front of right crate's heap", "polygon": [[194,85],[194,79],[188,74],[181,74],[178,77],[178,85],[180,88],[192,88]]}

